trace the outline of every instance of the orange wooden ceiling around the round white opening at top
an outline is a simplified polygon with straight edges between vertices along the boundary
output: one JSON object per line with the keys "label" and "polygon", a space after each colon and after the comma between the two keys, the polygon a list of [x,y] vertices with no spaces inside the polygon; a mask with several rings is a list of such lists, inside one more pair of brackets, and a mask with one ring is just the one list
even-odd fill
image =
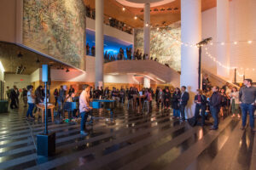
{"label": "orange wooden ceiling around the round white opening at top", "polygon": [[[129,0],[131,1],[131,0]],[[84,4],[95,8],[95,0],[84,0]],[[180,16],[181,0],[174,0],[172,3],[166,3],[157,7],[152,7],[150,13],[150,22],[152,26],[167,26],[173,22],[181,20]],[[201,10],[216,7],[217,0],[202,0]],[[122,8],[125,7],[125,11]],[[143,8],[133,8],[124,6],[116,0],[104,0],[104,14],[114,19],[125,22],[128,26],[143,27]],[[137,20],[134,17],[137,16]],[[142,20],[140,20],[142,19]]]}

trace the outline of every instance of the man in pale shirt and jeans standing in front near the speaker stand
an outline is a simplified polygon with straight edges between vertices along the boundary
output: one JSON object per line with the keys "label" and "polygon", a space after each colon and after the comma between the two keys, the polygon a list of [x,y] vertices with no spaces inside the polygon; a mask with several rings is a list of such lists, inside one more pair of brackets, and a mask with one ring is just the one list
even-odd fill
{"label": "man in pale shirt and jeans standing in front near the speaker stand", "polygon": [[87,84],[84,84],[83,92],[80,94],[80,98],[79,98],[79,111],[81,115],[80,133],[82,135],[87,135],[87,133],[84,132],[85,123],[87,121],[88,114],[91,110],[92,110],[92,107],[90,107],[90,86]]}

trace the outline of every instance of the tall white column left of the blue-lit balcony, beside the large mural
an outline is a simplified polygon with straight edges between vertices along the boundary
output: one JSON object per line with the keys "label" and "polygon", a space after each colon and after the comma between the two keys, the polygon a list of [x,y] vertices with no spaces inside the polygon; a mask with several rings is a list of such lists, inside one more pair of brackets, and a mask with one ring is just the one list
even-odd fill
{"label": "tall white column left of the blue-lit balcony, beside the large mural", "polygon": [[104,1],[96,0],[95,86],[99,86],[101,82],[103,85],[103,53],[104,53],[103,14],[104,14]]}

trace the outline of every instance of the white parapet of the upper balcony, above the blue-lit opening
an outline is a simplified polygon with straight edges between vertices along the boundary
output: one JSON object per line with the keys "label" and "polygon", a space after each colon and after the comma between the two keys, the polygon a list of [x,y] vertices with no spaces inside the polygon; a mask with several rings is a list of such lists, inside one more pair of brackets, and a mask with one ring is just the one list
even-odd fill
{"label": "white parapet of the upper balcony, above the blue-lit opening", "polygon": [[[86,18],[86,28],[92,31],[95,31],[95,20]],[[103,31],[104,31],[104,35],[107,35],[110,37],[116,37],[122,41],[130,42],[132,44],[134,42],[133,35],[128,34],[125,31],[119,31],[119,29],[113,28],[111,26],[104,25]]]}

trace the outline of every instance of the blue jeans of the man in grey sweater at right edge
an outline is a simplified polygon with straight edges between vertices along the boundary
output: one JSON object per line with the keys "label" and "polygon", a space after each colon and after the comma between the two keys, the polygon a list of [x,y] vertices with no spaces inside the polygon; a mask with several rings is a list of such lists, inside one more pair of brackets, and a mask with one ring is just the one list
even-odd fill
{"label": "blue jeans of the man in grey sweater at right edge", "polygon": [[241,126],[245,127],[247,124],[247,113],[250,116],[250,127],[254,128],[254,111],[255,105],[241,104]]}

